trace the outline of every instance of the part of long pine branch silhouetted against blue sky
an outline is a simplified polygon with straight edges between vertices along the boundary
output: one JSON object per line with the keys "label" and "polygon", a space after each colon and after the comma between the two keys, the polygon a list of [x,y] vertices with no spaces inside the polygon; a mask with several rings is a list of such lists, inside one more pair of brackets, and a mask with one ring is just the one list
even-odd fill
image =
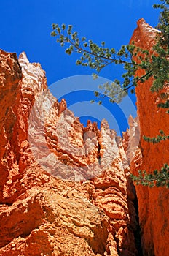
{"label": "part of long pine branch silhouetted against blue sky", "polygon": [[[121,88],[119,88],[119,80],[115,80],[114,83],[109,85],[109,89],[111,90],[108,90],[107,83],[101,86],[104,90],[104,94],[109,96],[112,102],[121,101],[126,92],[128,92],[128,89],[136,86],[139,78],[133,77],[138,68],[138,64],[132,59],[133,51],[136,49],[134,45],[122,45],[117,51],[114,48],[106,48],[105,42],[101,42],[101,45],[97,45],[92,40],[87,40],[85,37],[80,39],[77,32],[72,31],[73,28],[71,25],[68,25],[67,31],[65,24],[62,24],[61,26],[52,24],[52,29],[53,31],[51,35],[57,37],[57,42],[60,43],[62,47],[68,45],[68,48],[65,50],[68,55],[71,55],[71,53],[74,52],[81,54],[80,59],[76,61],[76,65],[95,69],[97,74],[93,74],[93,78],[97,78],[99,72],[109,64],[114,63],[116,65],[120,64],[124,66],[126,72],[122,75],[124,82]],[[115,91],[116,94],[114,93]],[[132,92],[134,92],[133,89]]]}

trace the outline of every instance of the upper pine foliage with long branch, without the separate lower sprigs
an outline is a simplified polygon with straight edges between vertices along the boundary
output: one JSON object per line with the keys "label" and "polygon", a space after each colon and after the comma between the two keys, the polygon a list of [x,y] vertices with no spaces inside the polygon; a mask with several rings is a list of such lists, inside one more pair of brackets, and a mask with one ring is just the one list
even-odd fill
{"label": "upper pine foliage with long branch, without the separate lower sprigs", "polygon": [[[94,74],[94,78],[109,64],[123,66],[125,73],[122,74],[122,83],[116,79],[114,83],[109,85],[109,89],[107,83],[101,86],[103,94],[108,96],[111,102],[120,102],[125,96],[125,93],[128,93],[129,89],[132,93],[134,92],[134,87],[137,86],[138,81],[144,83],[150,77],[154,78],[151,90],[159,91],[164,86],[165,81],[169,80],[169,61],[167,58],[169,53],[169,14],[168,8],[166,7],[167,2],[162,1],[161,5],[154,5],[156,8],[164,9],[160,15],[160,23],[158,25],[158,28],[162,31],[158,34],[158,42],[154,46],[154,54],[135,47],[134,43],[131,45],[122,45],[119,50],[115,50],[114,48],[106,48],[105,42],[101,42],[101,45],[98,45],[91,39],[87,40],[85,37],[80,39],[77,32],[72,31],[73,27],[71,25],[68,25],[66,31],[65,24],[61,26],[52,24],[53,31],[51,35],[57,37],[57,42],[62,47],[68,45],[68,48],[65,50],[68,55],[74,52],[80,53],[81,57],[76,61],[76,64],[95,69],[97,74]],[[165,34],[165,37],[163,34]],[[140,63],[133,61],[133,56],[138,57]],[[141,75],[141,77],[135,77],[135,72],[138,69],[144,69],[145,74]]]}

